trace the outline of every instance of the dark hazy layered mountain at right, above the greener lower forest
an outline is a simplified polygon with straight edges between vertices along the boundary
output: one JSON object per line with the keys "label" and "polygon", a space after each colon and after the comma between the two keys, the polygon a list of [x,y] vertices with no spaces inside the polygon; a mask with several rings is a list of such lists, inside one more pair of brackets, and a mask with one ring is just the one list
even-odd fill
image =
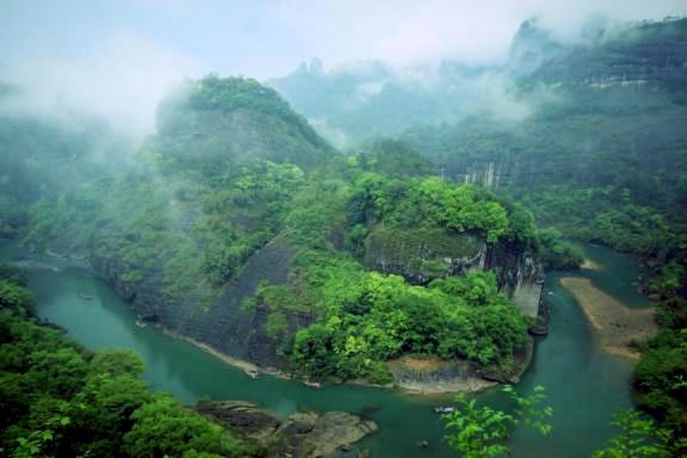
{"label": "dark hazy layered mountain at right, above the greener lower forest", "polygon": [[[687,76],[686,49],[687,19],[628,25],[523,76],[518,98],[533,108],[521,122],[474,116],[401,138],[457,181],[488,181],[532,198],[556,187],[606,190],[591,199],[596,209],[584,206],[591,215],[602,201],[610,206],[629,193],[633,203],[674,219],[686,209],[686,91],[677,84]],[[565,225],[587,230],[581,219],[594,220],[589,211]],[[539,216],[563,218],[549,214]]]}

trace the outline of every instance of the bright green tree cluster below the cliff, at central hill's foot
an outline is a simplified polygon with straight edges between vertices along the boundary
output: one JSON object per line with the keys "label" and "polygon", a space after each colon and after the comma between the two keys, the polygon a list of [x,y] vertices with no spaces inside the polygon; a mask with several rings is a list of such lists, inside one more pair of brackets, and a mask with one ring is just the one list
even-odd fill
{"label": "bright green tree cluster below the cliff, at central hill's foot", "polygon": [[388,383],[381,363],[408,353],[512,369],[513,352],[526,342],[527,321],[496,293],[491,274],[437,279],[429,288],[396,275],[357,277],[328,279],[326,312],[295,334],[291,360],[309,376]]}

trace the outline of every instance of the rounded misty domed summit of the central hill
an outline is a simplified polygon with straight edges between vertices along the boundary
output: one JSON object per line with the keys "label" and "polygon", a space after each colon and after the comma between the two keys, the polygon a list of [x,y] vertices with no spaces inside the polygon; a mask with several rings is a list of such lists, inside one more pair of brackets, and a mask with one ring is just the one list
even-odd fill
{"label": "rounded misty domed summit of the central hill", "polygon": [[183,167],[218,171],[254,159],[308,168],[333,153],[271,87],[212,75],[185,82],[161,102],[147,148]]}

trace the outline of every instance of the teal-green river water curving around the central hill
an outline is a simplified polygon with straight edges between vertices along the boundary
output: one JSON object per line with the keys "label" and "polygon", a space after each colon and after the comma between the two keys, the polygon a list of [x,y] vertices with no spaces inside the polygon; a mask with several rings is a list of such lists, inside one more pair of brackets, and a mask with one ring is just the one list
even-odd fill
{"label": "teal-green river water curving around the central hill", "polygon": [[[583,271],[594,284],[629,306],[646,306],[635,291],[640,270],[633,260],[601,247],[585,247],[587,256],[605,270]],[[153,389],[171,391],[183,402],[208,396],[214,400],[258,402],[279,415],[300,409],[343,410],[371,417],[380,431],[361,442],[372,457],[452,457],[442,442],[440,418],[431,407],[450,402],[451,396],[410,396],[400,391],[329,385],[315,390],[300,382],[269,376],[257,380],[229,367],[190,343],[173,339],[155,328],[140,329],[135,314],[113,290],[89,275],[85,266],[29,254],[12,245],[0,247],[5,260],[23,259],[29,288],[38,301],[38,314],[69,332],[92,350],[128,347],[146,362],[145,378]],[[28,261],[26,261],[28,260]],[[513,457],[581,458],[603,446],[613,433],[611,414],[631,407],[631,363],[600,351],[589,324],[572,295],[550,273],[544,285],[551,306],[550,334],[540,338],[530,369],[517,385],[522,394],[547,388],[554,408],[549,437],[516,431]],[[566,274],[567,275],[567,274]],[[87,300],[79,292],[93,295]],[[481,393],[480,400],[495,407],[506,399],[497,389]],[[428,448],[416,442],[428,440]]]}

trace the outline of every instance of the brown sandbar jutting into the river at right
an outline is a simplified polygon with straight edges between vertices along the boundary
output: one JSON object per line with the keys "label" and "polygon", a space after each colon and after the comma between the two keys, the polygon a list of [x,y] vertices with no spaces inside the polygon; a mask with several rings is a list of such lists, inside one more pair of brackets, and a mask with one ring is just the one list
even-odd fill
{"label": "brown sandbar jutting into the river at right", "polygon": [[655,332],[653,308],[628,308],[596,288],[587,278],[563,277],[560,282],[583,308],[604,350],[618,356],[639,358],[640,354],[629,344],[644,341]]}

